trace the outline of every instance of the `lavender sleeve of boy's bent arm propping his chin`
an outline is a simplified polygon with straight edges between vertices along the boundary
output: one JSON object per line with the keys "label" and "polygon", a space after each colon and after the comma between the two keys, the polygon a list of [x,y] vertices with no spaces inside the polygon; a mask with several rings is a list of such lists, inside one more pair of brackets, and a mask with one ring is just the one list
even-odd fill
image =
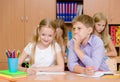
{"label": "lavender sleeve of boy's bent arm propping his chin", "polygon": [[[103,64],[105,49],[102,40],[93,39],[93,43],[91,47],[89,47],[90,53],[88,55],[84,55],[84,58],[81,60],[85,66],[93,66],[95,70],[100,68],[100,65]],[[108,68],[105,68],[108,70]]]}

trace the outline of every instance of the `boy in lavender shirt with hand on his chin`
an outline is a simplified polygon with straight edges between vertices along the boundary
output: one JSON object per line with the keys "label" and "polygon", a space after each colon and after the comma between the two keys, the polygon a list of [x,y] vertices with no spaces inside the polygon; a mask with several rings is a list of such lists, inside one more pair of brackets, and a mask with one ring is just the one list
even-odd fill
{"label": "boy in lavender shirt with hand on his chin", "polygon": [[109,70],[104,60],[104,44],[93,35],[94,21],[88,15],[73,19],[73,38],[68,43],[68,68],[72,72],[91,75],[97,70]]}

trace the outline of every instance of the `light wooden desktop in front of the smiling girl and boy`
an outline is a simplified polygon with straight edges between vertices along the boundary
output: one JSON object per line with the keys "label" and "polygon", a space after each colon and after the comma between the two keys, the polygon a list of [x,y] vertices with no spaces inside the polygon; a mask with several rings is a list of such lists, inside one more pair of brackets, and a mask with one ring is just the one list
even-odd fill
{"label": "light wooden desktop in front of the smiling girl and boy", "polygon": [[75,73],[66,72],[65,75],[37,75],[28,76],[26,79],[16,82],[120,82],[119,78],[88,78],[80,77]]}

